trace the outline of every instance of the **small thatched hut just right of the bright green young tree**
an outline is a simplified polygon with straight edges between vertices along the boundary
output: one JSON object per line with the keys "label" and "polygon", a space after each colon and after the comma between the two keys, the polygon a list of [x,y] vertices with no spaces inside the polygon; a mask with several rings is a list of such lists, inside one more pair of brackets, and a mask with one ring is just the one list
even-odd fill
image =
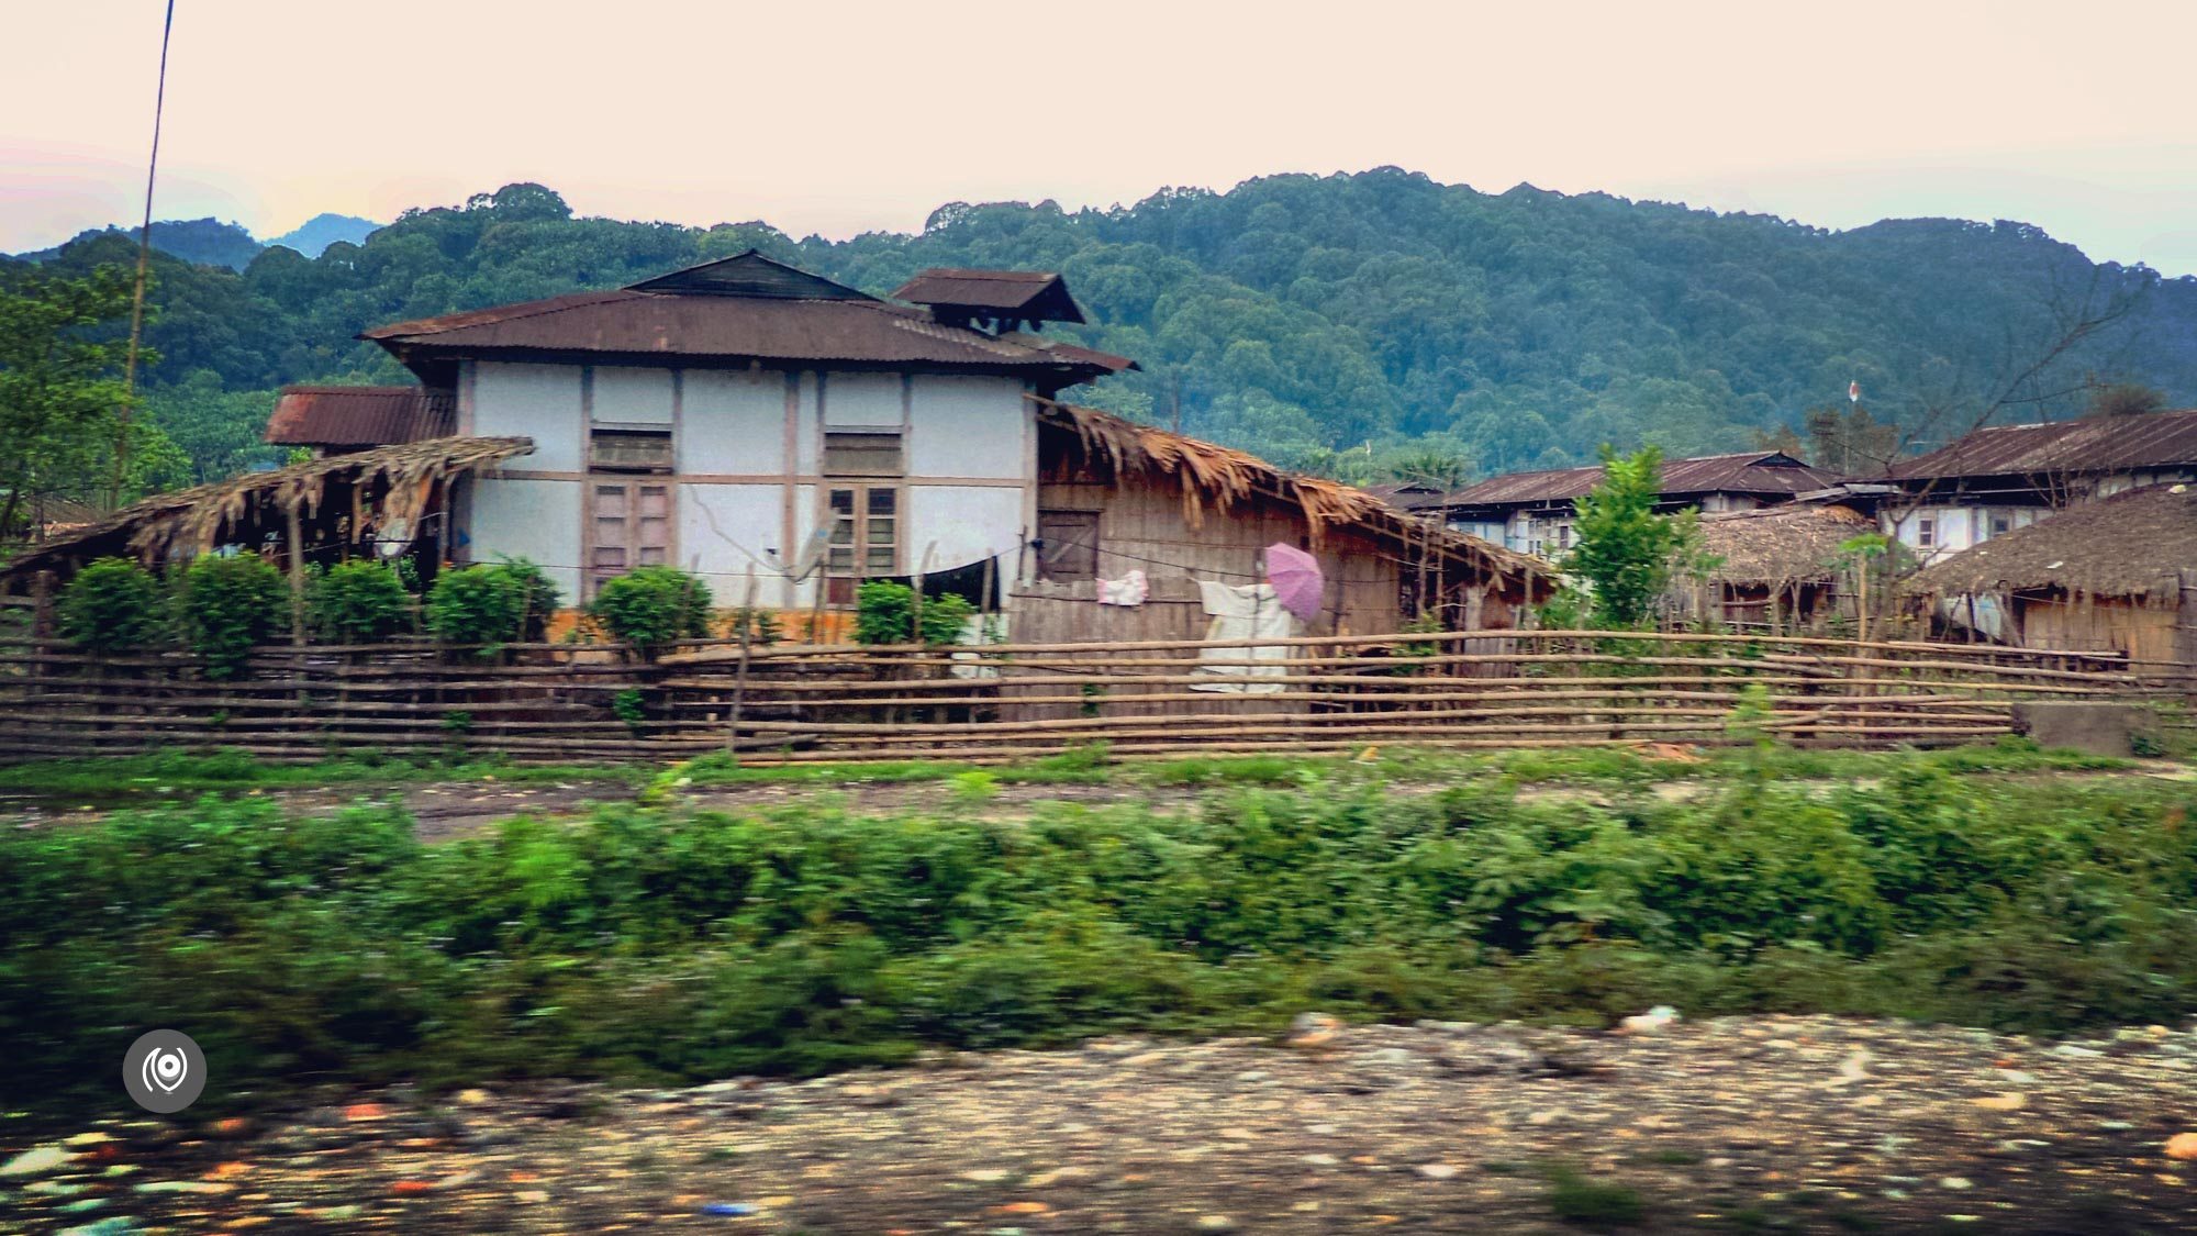
{"label": "small thatched hut just right of the bright green young tree", "polygon": [[1703,515],[1700,543],[1714,565],[1681,607],[1771,633],[1819,629],[1839,614],[1839,548],[1874,528],[1852,506]]}

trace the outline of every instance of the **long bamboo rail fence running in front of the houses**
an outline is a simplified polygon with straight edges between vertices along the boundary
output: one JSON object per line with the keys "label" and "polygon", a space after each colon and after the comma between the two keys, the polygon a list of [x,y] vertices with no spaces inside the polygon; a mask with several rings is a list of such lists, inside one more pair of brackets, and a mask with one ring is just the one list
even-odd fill
{"label": "long bamboo rail fence running in front of the houses", "polygon": [[2019,699],[2155,699],[2173,666],[2100,653],[1632,631],[1241,642],[859,647],[683,642],[266,647],[211,677],[185,653],[0,647],[0,759],[242,748],[264,759],[466,752],[527,763],[1008,761],[1364,746],[1988,741]]}

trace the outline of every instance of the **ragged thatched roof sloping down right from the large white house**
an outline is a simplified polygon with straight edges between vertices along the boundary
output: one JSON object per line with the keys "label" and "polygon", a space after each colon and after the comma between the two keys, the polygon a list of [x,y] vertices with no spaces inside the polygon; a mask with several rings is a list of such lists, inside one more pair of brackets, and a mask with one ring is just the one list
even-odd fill
{"label": "ragged thatched roof sloping down right from the large white house", "polygon": [[1296,506],[1305,515],[1314,543],[1331,528],[1353,528],[1413,550],[1430,545],[1437,554],[1448,554],[1498,578],[1518,581],[1536,594],[1555,585],[1549,563],[1479,537],[1452,532],[1430,519],[1417,519],[1362,488],[1283,473],[1257,455],[1136,424],[1094,407],[1037,396],[1030,400],[1037,405],[1041,424],[1072,431],[1083,442],[1085,453],[1105,460],[1116,473],[1142,473],[1180,486],[1182,512],[1191,528],[1204,519],[1208,508],[1224,512],[1239,501],[1265,497]]}

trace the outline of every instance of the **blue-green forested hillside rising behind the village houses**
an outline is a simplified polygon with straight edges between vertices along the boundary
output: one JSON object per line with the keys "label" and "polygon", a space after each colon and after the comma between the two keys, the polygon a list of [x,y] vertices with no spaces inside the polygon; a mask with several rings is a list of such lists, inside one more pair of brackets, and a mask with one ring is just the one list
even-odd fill
{"label": "blue-green forested hillside rising behind the village houses", "polygon": [[[406,211],[319,257],[268,249],[242,273],[158,262],[154,411],[200,471],[237,466],[279,383],[398,380],[367,325],[609,288],[758,246],[888,293],[923,266],[1068,275],[1077,341],[1142,361],[1090,391],[1134,416],[1338,466],[1373,442],[1465,455],[1476,471],[1591,460],[1604,442],[1742,449],[1843,402],[1942,433],[2043,354],[2054,314],[2118,317],[2054,363],[2197,402],[2197,279],[2092,264],[2023,224],[1894,220],[1830,233],[1560,196],[1481,194],[1426,176],[1274,176],[1134,207],[949,205],[923,233],[791,240],[765,224],[690,229],[573,218],[538,185]],[[64,266],[127,262],[88,233]],[[2045,411],[2072,411],[2067,396]],[[2023,405],[2010,416],[2037,416]]]}

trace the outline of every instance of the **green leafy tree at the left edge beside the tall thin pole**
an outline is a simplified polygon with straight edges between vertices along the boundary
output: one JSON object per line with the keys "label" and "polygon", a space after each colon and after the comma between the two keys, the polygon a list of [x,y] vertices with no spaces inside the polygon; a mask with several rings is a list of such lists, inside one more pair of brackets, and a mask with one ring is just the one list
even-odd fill
{"label": "green leafy tree at the left edge beside the tall thin pole", "polygon": [[99,328],[130,312],[130,277],[0,264],[0,534],[22,501],[90,493],[127,394],[123,347]]}

